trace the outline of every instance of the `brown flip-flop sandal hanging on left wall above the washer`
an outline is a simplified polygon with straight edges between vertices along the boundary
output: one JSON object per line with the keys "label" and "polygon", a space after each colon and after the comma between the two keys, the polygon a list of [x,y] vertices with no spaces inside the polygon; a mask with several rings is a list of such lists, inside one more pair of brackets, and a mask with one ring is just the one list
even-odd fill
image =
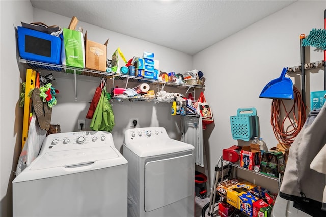
{"label": "brown flip-flop sandal hanging on left wall above the washer", "polygon": [[40,128],[49,130],[51,125],[52,109],[40,97],[40,89],[35,88],[32,93],[33,108],[37,117]]}

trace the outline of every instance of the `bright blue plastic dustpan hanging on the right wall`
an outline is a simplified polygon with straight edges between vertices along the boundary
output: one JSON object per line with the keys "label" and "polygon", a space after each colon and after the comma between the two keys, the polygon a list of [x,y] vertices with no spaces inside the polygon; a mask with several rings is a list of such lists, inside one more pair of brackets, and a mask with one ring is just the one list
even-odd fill
{"label": "bright blue plastic dustpan hanging on the right wall", "polygon": [[285,77],[288,68],[283,68],[281,76],[271,80],[261,91],[259,98],[293,99],[293,83]]}

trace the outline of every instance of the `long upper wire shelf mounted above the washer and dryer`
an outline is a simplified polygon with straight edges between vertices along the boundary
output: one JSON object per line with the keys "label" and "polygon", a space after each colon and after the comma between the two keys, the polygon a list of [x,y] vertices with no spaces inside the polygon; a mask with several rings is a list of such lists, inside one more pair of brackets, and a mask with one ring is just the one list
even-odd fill
{"label": "long upper wire shelf mounted above the washer and dryer", "polygon": [[[144,77],[135,77],[135,76],[116,74],[116,73],[111,73],[111,72],[103,72],[103,71],[96,71],[96,70],[90,70],[90,69],[81,69],[81,68],[75,68],[75,67],[69,67],[69,66],[62,66],[62,65],[50,64],[50,63],[25,60],[22,58],[19,58],[19,62],[29,65],[34,70],[46,70],[46,71],[52,71],[52,72],[74,74],[75,100],[77,100],[76,75],[112,79],[113,86],[115,86],[115,84],[114,84],[115,80],[124,80],[124,81],[126,81],[126,87],[128,86],[128,82],[138,82],[138,83],[146,82],[150,85],[157,85],[158,90],[163,90],[165,86],[172,86],[172,87],[181,88],[181,89],[187,88],[186,93],[189,93],[189,90],[191,90],[191,89],[192,89],[192,91],[191,91],[192,93],[195,93],[196,88],[205,89],[205,86],[201,86],[201,85],[190,85],[190,84],[180,85],[180,84],[176,84],[176,83],[172,83],[172,82],[153,80],[153,79],[144,78]],[[114,96],[113,98],[124,99],[124,98],[119,98],[117,96]],[[140,97],[129,97],[129,99],[135,99],[135,100],[140,100],[140,101],[157,100],[156,98],[147,99],[147,98],[140,98]]]}

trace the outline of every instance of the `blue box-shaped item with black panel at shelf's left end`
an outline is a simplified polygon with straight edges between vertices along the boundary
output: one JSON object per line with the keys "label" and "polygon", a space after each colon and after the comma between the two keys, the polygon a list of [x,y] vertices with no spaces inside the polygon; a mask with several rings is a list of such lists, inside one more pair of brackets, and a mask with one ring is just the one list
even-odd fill
{"label": "blue box-shaped item with black panel at shelf's left end", "polygon": [[18,50],[21,58],[60,64],[61,39],[40,31],[18,26]]}

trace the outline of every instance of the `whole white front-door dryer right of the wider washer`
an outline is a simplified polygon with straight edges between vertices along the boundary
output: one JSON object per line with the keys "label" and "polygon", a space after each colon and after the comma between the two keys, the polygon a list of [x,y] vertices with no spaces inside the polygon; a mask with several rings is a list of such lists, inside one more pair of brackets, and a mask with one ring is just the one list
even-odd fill
{"label": "whole white front-door dryer right of the wider washer", "polygon": [[165,128],[128,129],[128,217],[194,216],[194,146],[171,139]]}

